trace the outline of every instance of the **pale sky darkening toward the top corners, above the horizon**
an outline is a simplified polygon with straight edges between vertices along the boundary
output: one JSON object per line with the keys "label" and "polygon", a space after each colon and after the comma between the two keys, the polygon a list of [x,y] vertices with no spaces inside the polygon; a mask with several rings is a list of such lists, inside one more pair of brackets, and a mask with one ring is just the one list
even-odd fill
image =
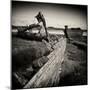
{"label": "pale sky darkening toward the top corners, above the horizon", "polygon": [[65,25],[87,29],[87,6],[12,1],[12,25],[30,25],[41,11],[47,27],[63,28]]}

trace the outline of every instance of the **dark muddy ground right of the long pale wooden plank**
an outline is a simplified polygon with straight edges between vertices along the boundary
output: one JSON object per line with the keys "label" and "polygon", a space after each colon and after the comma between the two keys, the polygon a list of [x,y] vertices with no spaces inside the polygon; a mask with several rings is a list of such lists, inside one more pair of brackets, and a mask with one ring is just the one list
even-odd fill
{"label": "dark muddy ground right of the long pale wooden plank", "polygon": [[[85,37],[86,38],[86,37]],[[87,48],[67,43],[60,86],[87,84]]]}

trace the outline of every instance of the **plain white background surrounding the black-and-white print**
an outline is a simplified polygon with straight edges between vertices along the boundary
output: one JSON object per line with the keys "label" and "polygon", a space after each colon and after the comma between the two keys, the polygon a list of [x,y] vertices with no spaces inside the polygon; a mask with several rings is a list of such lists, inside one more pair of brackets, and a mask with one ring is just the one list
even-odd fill
{"label": "plain white background surrounding the black-and-white print", "polygon": [[[89,5],[88,8],[90,8],[90,2],[89,0],[14,0],[14,1],[35,1],[35,2],[51,2],[51,3],[64,3],[64,4],[82,4],[82,5]],[[11,12],[10,12],[10,0],[1,0],[0,1],[0,89],[1,90],[8,90],[10,89],[10,79],[11,79]],[[90,16],[90,12],[88,10],[88,16]],[[88,17],[88,20],[90,18]],[[88,21],[88,26],[89,26]],[[88,27],[88,38],[90,27]],[[88,46],[90,42],[88,40]],[[88,47],[88,53],[90,47]],[[89,56],[89,54],[88,54]],[[90,57],[88,57],[88,63]],[[90,65],[88,64],[88,69],[90,68]],[[88,70],[89,71],[89,70]],[[90,76],[90,72],[88,72],[88,76]],[[90,80],[90,78],[88,78]],[[41,90],[90,90],[90,81],[88,81],[88,85],[84,86],[68,86],[68,87],[53,87],[53,88],[42,88]],[[37,89],[39,90],[39,89]]]}

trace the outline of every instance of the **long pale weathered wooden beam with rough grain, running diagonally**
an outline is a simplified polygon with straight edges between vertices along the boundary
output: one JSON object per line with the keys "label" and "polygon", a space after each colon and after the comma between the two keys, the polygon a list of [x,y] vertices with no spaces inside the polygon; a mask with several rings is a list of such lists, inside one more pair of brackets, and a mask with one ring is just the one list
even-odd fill
{"label": "long pale weathered wooden beam with rough grain, running diagonally", "polygon": [[24,88],[55,86],[60,80],[61,63],[64,59],[66,39],[61,38],[55,50],[48,56],[48,62],[35,74]]}

